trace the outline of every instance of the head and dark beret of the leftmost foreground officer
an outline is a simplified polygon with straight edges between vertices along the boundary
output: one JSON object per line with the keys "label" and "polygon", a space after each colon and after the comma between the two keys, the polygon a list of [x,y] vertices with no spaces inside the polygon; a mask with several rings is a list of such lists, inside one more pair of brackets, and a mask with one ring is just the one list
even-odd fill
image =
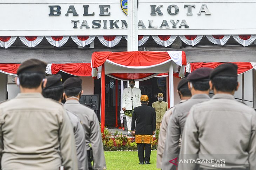
{"label": "head and dark beret of the leftmost foreground officer", "polygon": [[17,70],[17,84],[23,88],[33,89],[38,88],[45,78],[45,70],[47,64],[38,59],[29,59],[19,66]]}

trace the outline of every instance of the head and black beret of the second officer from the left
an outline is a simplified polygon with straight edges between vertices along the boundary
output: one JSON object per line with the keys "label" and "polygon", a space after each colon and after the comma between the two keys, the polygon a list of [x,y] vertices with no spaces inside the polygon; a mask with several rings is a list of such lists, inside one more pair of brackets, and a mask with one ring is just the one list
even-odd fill
{"label": "head and black beret of the second officer from the left", "polygon": [[60,74],[48,76],[46,87],[42,92],[43,97],[60,101],[63,95],[63,84]]}

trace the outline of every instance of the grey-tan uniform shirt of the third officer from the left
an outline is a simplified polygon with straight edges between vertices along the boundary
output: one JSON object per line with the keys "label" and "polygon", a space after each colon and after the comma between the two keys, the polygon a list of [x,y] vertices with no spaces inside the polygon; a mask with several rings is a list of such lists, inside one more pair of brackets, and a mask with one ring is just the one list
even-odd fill
{"label": "grey-tan uniform shirt of the third officer from the left", "polygon": [[73,99],[67,100],[64,104],[64,108],[74,112],[81,120],[85,129],[87,150],[89,149],[89,143],[91,143],[93,149],[93,169],[106,169],[100,124],[94,110]]}

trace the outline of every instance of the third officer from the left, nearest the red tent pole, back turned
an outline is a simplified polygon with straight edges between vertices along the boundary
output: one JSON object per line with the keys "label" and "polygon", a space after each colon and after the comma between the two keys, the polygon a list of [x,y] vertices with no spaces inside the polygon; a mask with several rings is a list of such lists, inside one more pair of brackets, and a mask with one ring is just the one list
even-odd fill
{"label": "third officer from the left, nearest the red tent pole, back turned", "polygon": [[[63,83],[63,86],[64,96],[66,98],[64,108],[74,112],[80,118],[85,129],[89,169],[106,169],[99,120],[94,110],[79,103],[79,99],[83,93],[82,80],[76,77],[70,77]],[[89,143],[92,145],[92,151]],[[91,161],[93,161],[93,166]]]}

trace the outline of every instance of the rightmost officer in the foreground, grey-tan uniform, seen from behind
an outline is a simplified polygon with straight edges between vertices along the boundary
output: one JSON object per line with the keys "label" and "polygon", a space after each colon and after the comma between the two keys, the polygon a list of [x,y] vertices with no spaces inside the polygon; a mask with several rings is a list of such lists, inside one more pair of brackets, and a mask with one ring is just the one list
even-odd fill
{"label": "rightmost officer in the foreground, grey-tan uniform, seen from behind", "polygon": [[[184,127],[178,169],[256,169],[256,113],[238,102],[237,66],[222,64],[210,75],[211,100],[194,105]],[[210,161],[209,161],[210,160]],[[214,160],[214,161],[211,161]]]}

